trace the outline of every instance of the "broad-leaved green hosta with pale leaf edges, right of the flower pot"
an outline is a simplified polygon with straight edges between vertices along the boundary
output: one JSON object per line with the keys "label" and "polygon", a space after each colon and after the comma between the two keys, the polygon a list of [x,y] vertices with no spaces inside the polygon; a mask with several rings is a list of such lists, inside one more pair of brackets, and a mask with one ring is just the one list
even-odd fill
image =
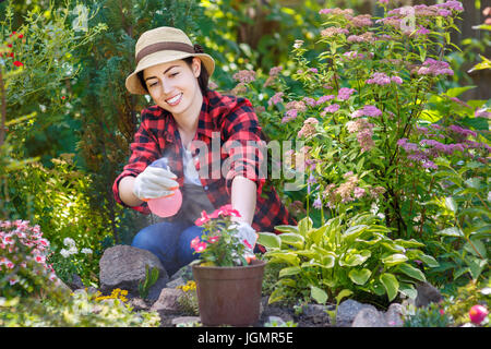
{"label": "broad-leaved green hosta with pale leaf edges, right of the flower pot", "polygon": [[388,238],[391,230],[380,220],[371,214],[339,215],[315,228],[306,217],[298,226],[276,227],[282,234],[261,232],[258,243],[267,249],[264,257],[285,265],[270,302],[291,290],[320,303],[342,290],[352,291],[354,298],[415,298],[415,282],[426,280],[418,264],[438,263],[419,250],[422,243]]}

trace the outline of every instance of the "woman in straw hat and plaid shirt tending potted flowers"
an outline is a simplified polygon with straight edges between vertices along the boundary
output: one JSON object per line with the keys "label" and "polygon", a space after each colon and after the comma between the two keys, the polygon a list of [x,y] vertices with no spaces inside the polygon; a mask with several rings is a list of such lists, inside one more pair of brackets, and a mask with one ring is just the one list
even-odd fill
{"label": "woman in straw hat and plaid shirt tending potted flowers", "polygon": [[[236,218],[239,233],[249,237],[295,224],[276,191],[263,190],[263,157],[251,146],[261,142],[261,127],[250,101],[207,87],[213,58],[173,27],[145,32],[135,58],[125,86],[149,94],[155,106],[142,111],[129,163],[112,188],[115,197],[144,214],[149,213],[145,201],[177,188],[183,201],[176,216],[141,230],[132,245],[156,254],[172,275],[196,258],[190,242],[203,233],[194,225],[202,210],[231,204],[241,215]],[[158,166],[163,158],[168,168]]]}

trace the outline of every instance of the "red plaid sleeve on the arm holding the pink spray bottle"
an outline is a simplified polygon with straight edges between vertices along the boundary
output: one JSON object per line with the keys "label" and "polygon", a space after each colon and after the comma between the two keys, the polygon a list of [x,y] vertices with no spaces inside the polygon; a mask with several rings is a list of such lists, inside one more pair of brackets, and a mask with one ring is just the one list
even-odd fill
{"label": "red plaid sleeve on the arm holding the pink spray bottle", "polygon": [[116,178],[112,184],[112,192],[115,200],[119,204],[131,207],[143,214],[148,214],[149,209],[146,203],[140,206],[128,206],[119,196],[119,182],[127,176],[139,176],[149,164],[158,158],[159,151],[155,136],[149,130],[148,119],[145,118],[145,112],[142,112],[142,123],[134,135],[134,141],[130,145],[130,159],[123,167],[122,172]]}

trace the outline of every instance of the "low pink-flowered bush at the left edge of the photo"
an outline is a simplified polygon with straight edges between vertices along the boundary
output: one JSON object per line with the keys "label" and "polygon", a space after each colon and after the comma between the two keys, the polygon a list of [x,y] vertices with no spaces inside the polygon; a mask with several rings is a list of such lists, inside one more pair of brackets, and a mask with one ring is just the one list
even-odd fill
{"label": "low pink-flowered bush at the left edge of the photo", "polygon": [[36,294],[58,284],[52,266],[46,263],[48,248],[39,226],[0,220],[0,289],[4,297]]}

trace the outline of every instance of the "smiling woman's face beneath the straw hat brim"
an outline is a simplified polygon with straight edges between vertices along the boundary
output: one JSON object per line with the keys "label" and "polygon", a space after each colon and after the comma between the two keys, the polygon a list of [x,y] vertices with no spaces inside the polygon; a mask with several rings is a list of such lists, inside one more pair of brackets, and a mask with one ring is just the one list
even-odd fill
{"label": "smiling woman's face beneath the straw hat brim", "polygon": [[147,68],[143,71],[143,80],[154,101],[179,117],[195,108],[201,109],[200,73],[201,61],[193,58],[191,67],[183,60],[177,60]]}

